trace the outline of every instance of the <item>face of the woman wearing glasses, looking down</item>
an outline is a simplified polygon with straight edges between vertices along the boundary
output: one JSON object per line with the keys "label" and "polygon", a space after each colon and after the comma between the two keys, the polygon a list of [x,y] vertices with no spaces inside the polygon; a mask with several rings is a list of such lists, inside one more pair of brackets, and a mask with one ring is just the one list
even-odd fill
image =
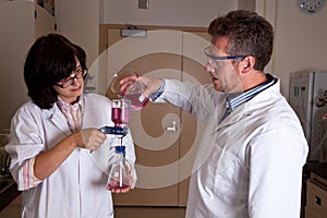
{"label": "face of the woman wearing glasses, looking down", "polygon": [[[80,61],[76,59],[76,70],[72,74],[55,85],[53,88],[57,90],[58,96],[70,104],[76,102],[78,97],[83,94],[84,80],[83,69]],[[61,86],[61,87],[60,87]]]}

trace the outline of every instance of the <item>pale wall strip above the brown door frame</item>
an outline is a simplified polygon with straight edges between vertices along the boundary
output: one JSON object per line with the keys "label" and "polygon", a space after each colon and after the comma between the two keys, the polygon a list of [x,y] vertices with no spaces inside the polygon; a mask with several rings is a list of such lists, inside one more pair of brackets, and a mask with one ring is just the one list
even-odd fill
{"label": "pale wall strip above the brown door frame", "polygon": [[138,9],[138,0],[104,0],[101,22],[204,27],[218,14],[237,8],[238,0],[149,0],[148,9]]}

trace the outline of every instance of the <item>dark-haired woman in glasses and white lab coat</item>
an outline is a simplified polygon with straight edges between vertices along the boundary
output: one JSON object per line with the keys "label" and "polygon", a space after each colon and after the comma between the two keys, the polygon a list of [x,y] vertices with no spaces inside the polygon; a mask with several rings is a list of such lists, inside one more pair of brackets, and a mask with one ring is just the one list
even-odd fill
{"label": "dark-haired woman in glasses and white lab coat", "polygon": [[[113,125],[110,100],[83,94],[86,74],[84,50],[61,35],[40,37],[28,51],[24,78],[32,100],[12,118],[5,147],[23,191],[22,217],[113,217],[106,173],[117,142],[99,131]],[[123,141],[135,182],[130,133]]]}

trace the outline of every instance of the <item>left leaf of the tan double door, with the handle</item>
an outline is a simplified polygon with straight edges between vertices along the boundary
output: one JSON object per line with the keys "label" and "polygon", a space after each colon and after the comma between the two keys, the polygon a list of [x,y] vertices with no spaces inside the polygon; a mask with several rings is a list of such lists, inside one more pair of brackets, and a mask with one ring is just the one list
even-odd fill
{"label": "left leaf of the tan double door, with the handle", "polygon": [[[120,29],[109,29],[108,41],[108,81],[121,69],[181,80],[180,32],[153,31],[144,38],[123,38]],[[177,131],[167,131],[172,123]],[[129,126],[135,143],[137,182],[131,192],[114,194],[114,205],[178,206],[180,109],[149,102],[131,112]]]}

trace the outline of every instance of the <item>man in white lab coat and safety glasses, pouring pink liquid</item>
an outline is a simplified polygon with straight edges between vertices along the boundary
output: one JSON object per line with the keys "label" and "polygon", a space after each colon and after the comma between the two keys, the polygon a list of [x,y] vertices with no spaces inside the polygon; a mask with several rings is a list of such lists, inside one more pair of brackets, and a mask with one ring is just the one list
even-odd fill
{"label": "man in white lab coat and safety glasses, pouring pink liquid", "polygon": [[146,95],[207,121],[191,177],[187,218],[296,218],[307,143],[280,81],[264,72],[271,25],[232,11],[208,28],[213,85],[141,76]]}

